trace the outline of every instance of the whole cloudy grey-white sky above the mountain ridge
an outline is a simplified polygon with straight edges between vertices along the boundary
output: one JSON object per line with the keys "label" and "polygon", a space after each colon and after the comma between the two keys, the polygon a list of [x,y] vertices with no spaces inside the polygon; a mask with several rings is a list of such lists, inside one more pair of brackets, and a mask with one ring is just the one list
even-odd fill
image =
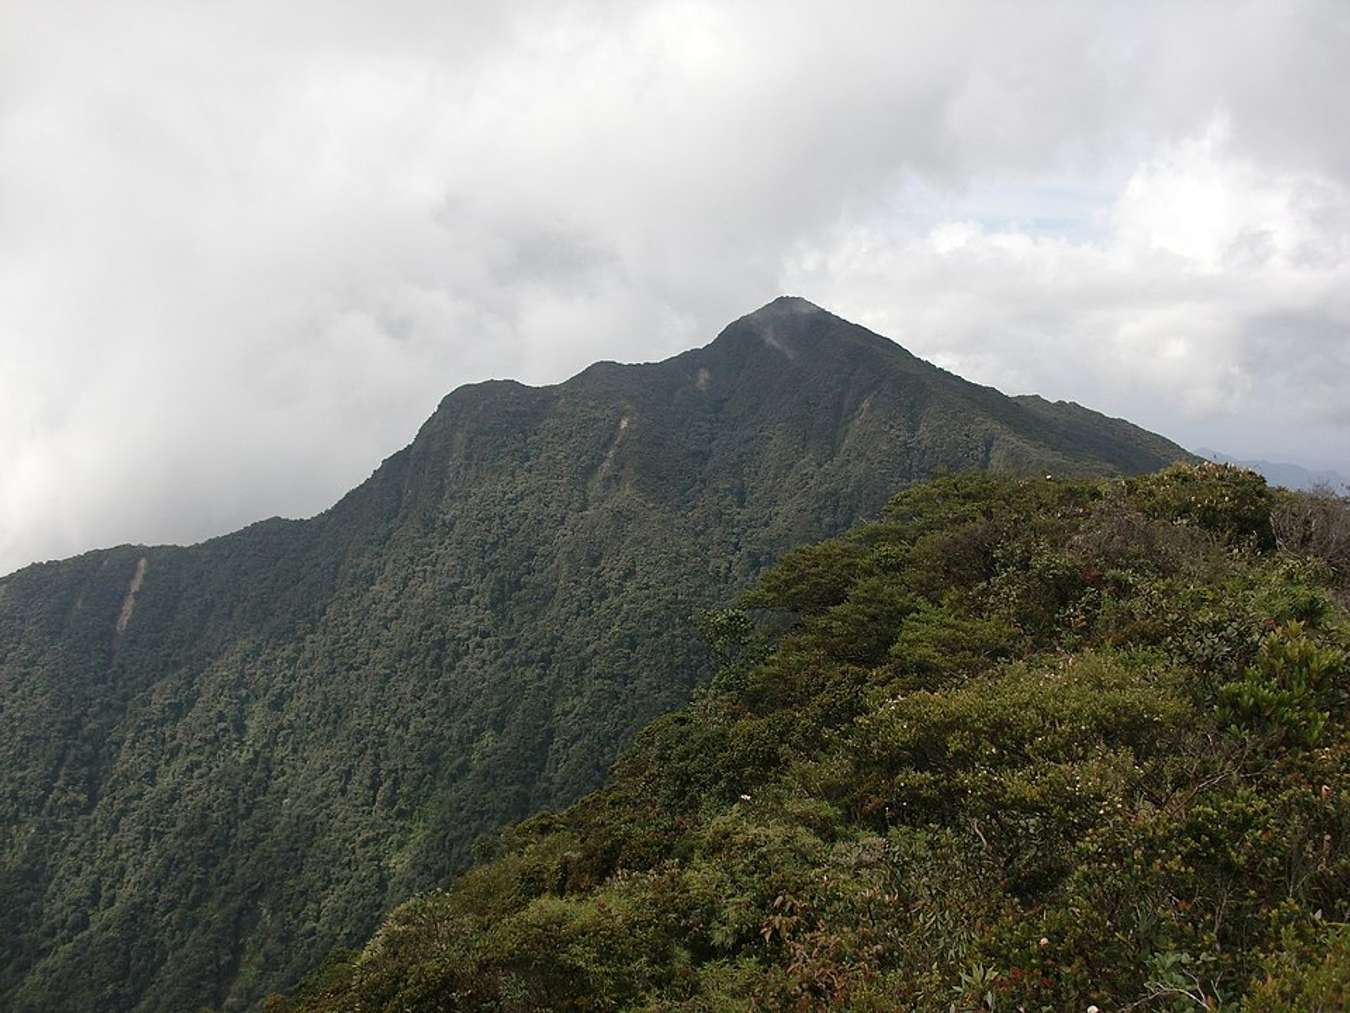
{"label": "whole cloudy grey-white sky above the mountain ridge", "polygon": [[1350,4],[5,0],[0,573],[792,293],[1350,471]]}

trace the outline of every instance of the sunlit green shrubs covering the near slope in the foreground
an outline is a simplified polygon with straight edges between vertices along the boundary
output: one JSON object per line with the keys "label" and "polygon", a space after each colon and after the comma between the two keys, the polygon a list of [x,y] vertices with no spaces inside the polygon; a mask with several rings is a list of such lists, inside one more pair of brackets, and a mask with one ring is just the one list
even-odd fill
{"label": "sunlit green shrubs covering the near slope in the foreground", "polygon": [[911,489],[710,616],[721,674],[606,789],[269,1005],[1345,1009],[1347,574],[1293,506]]}

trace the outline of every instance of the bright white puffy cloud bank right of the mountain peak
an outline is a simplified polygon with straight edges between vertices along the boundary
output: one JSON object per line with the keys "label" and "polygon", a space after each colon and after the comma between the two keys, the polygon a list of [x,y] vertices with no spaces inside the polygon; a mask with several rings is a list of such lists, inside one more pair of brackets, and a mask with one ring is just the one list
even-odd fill
{"label": "bright white puffy cloud bank right of the mountain peak", "polygon": [[1216,118],[1138,165],[1100,231],[853,224],[799,247],[790,284],[1006,390],[1193,446],[1334,458],[1347,435],[1350,190],[1262,170],[1228,134]]}

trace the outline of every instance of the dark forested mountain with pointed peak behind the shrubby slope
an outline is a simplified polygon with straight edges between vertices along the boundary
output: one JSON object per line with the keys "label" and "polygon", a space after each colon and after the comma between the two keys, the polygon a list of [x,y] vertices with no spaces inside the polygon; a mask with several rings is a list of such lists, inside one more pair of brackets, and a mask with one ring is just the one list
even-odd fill
{"label": "dark forested mountain with pointed peak behind the shrubby slope", "polygon": [[1184,458],[803,300],[703,348],[447,396],[329,511],[0,579],[0,1008],[243,1009],[713,662],[697,616],[940,469]]}

